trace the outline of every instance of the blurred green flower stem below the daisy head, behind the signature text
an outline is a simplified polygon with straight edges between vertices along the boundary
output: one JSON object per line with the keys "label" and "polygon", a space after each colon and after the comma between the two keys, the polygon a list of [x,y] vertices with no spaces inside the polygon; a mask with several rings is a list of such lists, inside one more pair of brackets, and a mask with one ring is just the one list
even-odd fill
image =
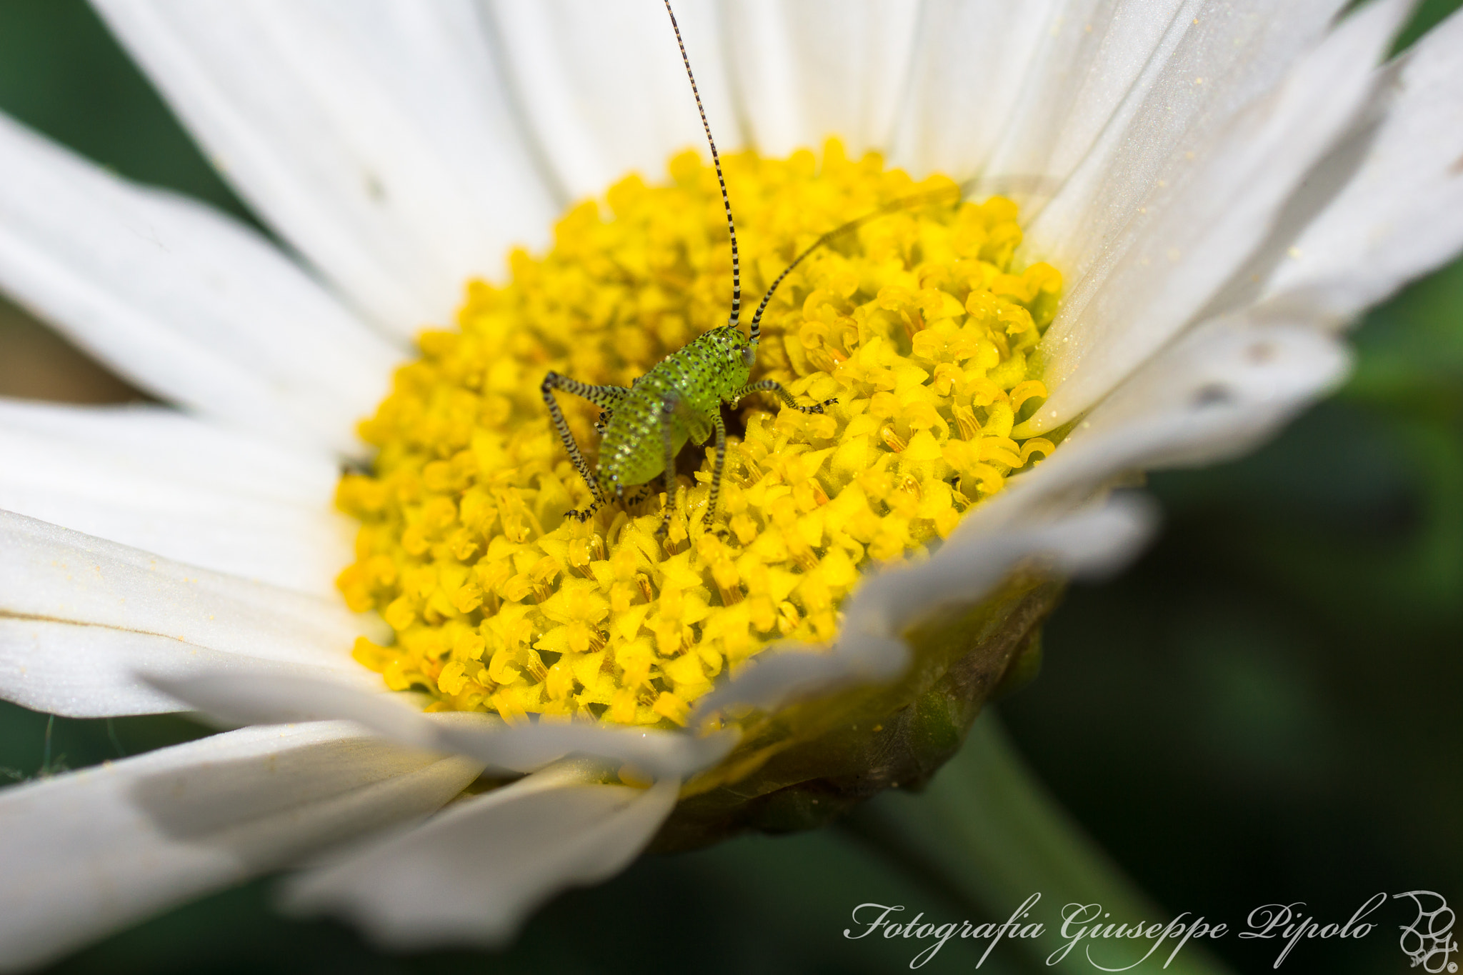
{"label": "blurred green flower stem below the daisy head, behind the signature text", "polygon": [[[1065,957],[1055,953],[1068,941],[1061,933],[1061,909],[1068,903],[1100,903],[1105,921],[1167,922],[1176,912],[1154,905],[1081,830],[1017,754],[993,712],[971,726],[966,744],[920,794],[887,792],[846,822],[876,852],[916,876],[932,893],[971,912],[971,924],[1002,922],[1033,893],[1040,906],[1023,924],[1040,921],[1043,934],[1011,937],[1033,971],[1083,972],[1093,962],[1078,941]],[[1184,924],[1194,919],[1189,915]],[[1055,921],[1055,924],[1053,924]],[[1074,924],[1072,930],[1080,928]],[[1147,938],[1093,941],[1093,955],[1107,968],[1137,962],[1153,946]],[[1175,975],[1223,975],[1213,956],[1195,941],[1163,963],[1178,944],[1165,940],[1141,965],[1128,971]]]}

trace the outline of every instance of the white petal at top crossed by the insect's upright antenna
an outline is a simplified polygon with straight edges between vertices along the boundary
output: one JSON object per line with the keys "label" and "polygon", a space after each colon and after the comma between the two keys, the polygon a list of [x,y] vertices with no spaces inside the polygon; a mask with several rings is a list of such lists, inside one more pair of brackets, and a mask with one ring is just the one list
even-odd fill
{"label": "white petal at top crossed by the insect's upright antenna", "polygon": [[[660,3],[489,0],[515,98],[571,197],[631,170],[660,178],[676,149],[705,148],[670,18]],[[686,54],[721,152],[742,143],[708,0],[676,3]]]}

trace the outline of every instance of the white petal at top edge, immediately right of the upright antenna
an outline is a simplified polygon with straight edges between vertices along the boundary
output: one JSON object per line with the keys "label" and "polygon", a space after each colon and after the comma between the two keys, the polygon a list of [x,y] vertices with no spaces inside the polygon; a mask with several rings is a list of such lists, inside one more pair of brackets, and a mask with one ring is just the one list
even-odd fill
{"label": "white petal at top edge, immediately right of the upright antenna", "polygon": [[748,0],[726,7],[737,101],[768,155],[838,136],[887,149],[914,56],[913,0]]}

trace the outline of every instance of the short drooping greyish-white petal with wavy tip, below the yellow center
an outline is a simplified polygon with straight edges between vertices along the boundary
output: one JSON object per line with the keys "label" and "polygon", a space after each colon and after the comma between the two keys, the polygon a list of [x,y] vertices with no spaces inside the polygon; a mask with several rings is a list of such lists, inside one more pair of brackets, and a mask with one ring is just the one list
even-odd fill
{"label": "short drooping greyish-white petal with wavy tip, below the yellow center", "polygon": [[426,826],[291,884],[291,906],[347,917],[377,944],[503,944],[554,893],[617,874],[679,782],[600,785],[569,766],[458,803]]}

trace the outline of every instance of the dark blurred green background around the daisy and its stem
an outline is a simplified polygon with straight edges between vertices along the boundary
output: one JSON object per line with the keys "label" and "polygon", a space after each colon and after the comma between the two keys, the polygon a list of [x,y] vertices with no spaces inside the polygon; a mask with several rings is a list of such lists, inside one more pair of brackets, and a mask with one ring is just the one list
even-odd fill
{"label": "dark blurred green background around the daisy and its stem", "polygon": [[[1409,38],[1454,6],[1425,3]],[[0,0],[0,110],[249,219],[79,1]],[[1344,921],[1378,890],[1413,889],[1463,906],[1463,263],[1355,338],[1350,383],[1274,443],[1151,478],[1159,541],[1119,579],[1072,589],[1043,674],[999,705],[1034,772],[1165,918],[1239,924],[1305,900]],[[0,393],[139,396],[3,303]],[[0,705],[0,785],[199,734],[180,718],[48,722]],[[900,804],[928,801],[884,797],[875,813],[898,822]],[[958,864],[911,864],[866,822],[642,860],[554,900],[503,955],[379,955],[344,927],[274,915],[260,881],[54,971],[903,971],[919,949],[841,937],[853,905],[977,915],[948,876]],[[1306,943],[1283,968],[1402,972],[1403,914],[1361,943]],[[970,969],[980,947],[952,941],[925,971]],[[1246,972],[1276,955],[1233,937],[1217,949]],[[985,965],[1037,968],[999,947]]]}

